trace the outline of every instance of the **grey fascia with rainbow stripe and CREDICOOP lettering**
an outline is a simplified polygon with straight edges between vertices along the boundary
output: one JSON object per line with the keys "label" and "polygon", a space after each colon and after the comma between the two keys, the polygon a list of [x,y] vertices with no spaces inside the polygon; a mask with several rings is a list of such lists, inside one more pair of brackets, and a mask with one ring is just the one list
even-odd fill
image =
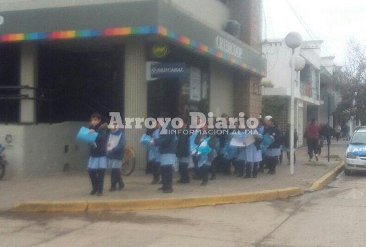
{"label": "grey fascia with rainbow stripe and CREDICOOP lettering", "polygon": [[7,11],[0,16],[0,42],[158,35],[266,76],[267,63],[260,52],[162,0]]}

